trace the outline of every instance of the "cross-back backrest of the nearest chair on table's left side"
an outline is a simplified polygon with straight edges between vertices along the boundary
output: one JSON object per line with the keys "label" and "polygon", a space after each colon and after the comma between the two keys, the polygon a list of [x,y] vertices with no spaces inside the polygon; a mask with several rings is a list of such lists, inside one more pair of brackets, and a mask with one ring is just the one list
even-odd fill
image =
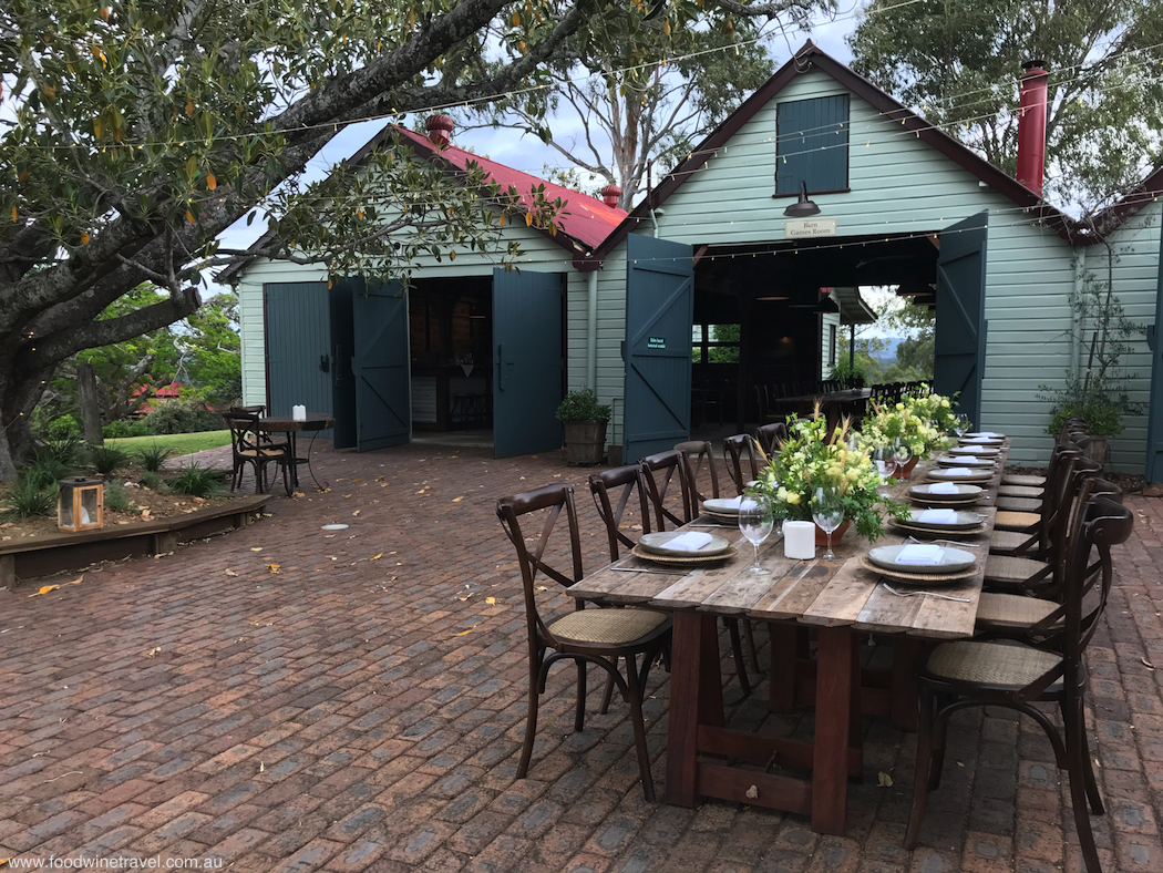
{"label": "cross-back backrest of the nearest chair on table's left side", "polygon": [[[562,542],[562,528],[557,525],[562,510],[565,511],[565,544]],[[582,579],[582,534],[578,531],[573,485],[548,485],[536,491],[501,497],[497,501],[497,517],[516,549],[521,567],[530,650],[542,640],[552,645],[554,636],[537,609],[536,583],[540,575],[569,588]],[[522,521],[529,530],[530,539],[535,539],[531,547],[526,540]],[[550,545],[552,549],[549,548]],[[580,602],[577,605],[580,606]]]}

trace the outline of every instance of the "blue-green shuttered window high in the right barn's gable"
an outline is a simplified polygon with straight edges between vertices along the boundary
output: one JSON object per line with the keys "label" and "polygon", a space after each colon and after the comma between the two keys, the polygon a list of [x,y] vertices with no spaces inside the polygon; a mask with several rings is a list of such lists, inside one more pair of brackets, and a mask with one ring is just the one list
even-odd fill
{"label": "blue-green shuttered window high in the right barn's gable", "polygon": [[776,197],[848,190],[848,94],[776,107]]}

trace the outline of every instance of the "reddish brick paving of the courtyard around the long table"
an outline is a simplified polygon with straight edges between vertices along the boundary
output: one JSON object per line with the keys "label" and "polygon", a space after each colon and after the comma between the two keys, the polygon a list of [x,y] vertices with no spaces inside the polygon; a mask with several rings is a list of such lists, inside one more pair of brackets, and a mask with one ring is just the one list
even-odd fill
{"label": "reddish brick paving of the courtyard around the long table", "polygon": [[[333,490],[280,497],[244,531],[45,596],[28,597],[79,574],[0,591],[0,858],[221,858],[256,873],[1079,870],[1049,745],[999,709],[955,721],[913,853],[913,738],[880,719],[865,719],[844,837],[729,803],[645,803],[625,707],[599,716],[591,701],[571,732],[571,670],[551,679],[530,778],[516,780],[523,608],[493,503],[585,474],[479,449],[317,457]],[[597,533],[588,496],[578,503]],[[1108,873],[1157,873],[1163,503],[1132,505],[1090,653],[1108,809],[1096,828]],[[349,527],[328,538],[327,523]],[[604,538],[588,545],[599,561]],[[725,680],[733,717],[762,719],[764,688],[741,702],[726,662]],[[651,682],[661,787],[665,674]]]}

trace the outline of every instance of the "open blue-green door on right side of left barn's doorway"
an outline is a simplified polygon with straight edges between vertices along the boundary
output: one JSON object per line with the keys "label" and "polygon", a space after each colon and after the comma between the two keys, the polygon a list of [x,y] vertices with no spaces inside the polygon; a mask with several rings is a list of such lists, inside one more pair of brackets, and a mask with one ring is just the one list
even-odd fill
{"label": "open blue-green door on right side of left barn's doorway", "polygon": [[562,447],[562,277],[493,270],[493,452]]}

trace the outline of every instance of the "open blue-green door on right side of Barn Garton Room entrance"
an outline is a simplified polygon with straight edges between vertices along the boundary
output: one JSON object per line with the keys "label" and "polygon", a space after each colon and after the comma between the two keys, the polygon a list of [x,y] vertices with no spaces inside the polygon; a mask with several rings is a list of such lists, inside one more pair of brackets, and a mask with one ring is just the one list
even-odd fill
{"label": "open blue-green door on right side of Barn Garton Room entrance", "polygon": [[937,257],[936,350],[933,389],[961,392],[961,411],[973,427],[982,421],[985,369],[985,241],[989,213],[982,212],[941,232]]}

